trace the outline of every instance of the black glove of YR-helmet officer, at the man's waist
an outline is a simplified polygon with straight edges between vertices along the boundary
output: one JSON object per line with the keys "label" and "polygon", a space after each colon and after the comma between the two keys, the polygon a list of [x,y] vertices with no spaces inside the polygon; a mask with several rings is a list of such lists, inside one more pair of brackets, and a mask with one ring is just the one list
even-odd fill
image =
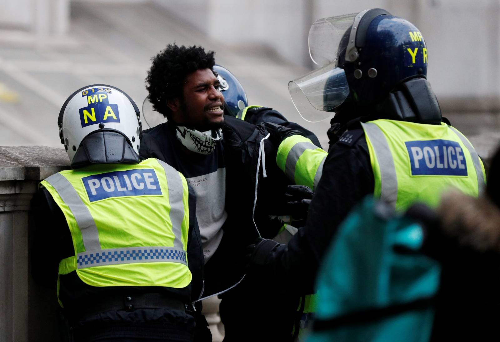
{"label": "black glove of YR-helmet officer, at the man's waist", "polygon": [[255,268],[269,267],[276,258],[276,253],[286,245],[268,238],[258,237],[245,250],[245,260],[247,271]]}

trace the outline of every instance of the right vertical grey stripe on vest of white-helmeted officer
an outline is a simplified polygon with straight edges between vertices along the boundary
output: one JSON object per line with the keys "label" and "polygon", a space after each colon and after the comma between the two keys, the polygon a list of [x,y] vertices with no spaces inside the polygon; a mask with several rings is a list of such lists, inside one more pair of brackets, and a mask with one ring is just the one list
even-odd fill
{"label": "right vertical grey stripe on vest of white-helmeted officer", "polygon": [[[182,197],[184,188],[182,187],[182,179],[177,170],[167,163],[156,159],[156,161],[165,170],[166,183],[168,186],[168,201],[170,202],[170,222],[172,223],[172,232],[175,235],[173,239],[173,247],[182,250],[182,220],[184,219],[184,202]],[[187,246],[186,246],[187,248]]]}

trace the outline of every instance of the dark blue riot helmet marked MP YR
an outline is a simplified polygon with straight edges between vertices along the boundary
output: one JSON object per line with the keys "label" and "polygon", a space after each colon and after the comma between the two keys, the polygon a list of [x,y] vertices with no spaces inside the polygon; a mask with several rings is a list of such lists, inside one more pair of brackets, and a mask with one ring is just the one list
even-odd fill
{"label": "dark blue riot helmet marked MP YR", "polygon": [[361,17],[354,44],[339,49],[338,65],[345,70],[352,100],[378,103],[399,82],[426,77],[427,48],[412,23],[379,8]]}

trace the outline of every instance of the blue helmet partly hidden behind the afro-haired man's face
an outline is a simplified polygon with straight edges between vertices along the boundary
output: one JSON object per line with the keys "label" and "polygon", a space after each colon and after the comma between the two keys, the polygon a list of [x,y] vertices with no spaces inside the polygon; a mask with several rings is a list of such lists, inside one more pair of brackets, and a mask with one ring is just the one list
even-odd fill
{"label": "blue helmet partly hidden behind the afro-haired man's face", "polygon": [[215,64],[213,71],[219,80],[219,91],[224,95],[224,114],[236,116],[239,110],[248,105],[245,89],[225,67]]}

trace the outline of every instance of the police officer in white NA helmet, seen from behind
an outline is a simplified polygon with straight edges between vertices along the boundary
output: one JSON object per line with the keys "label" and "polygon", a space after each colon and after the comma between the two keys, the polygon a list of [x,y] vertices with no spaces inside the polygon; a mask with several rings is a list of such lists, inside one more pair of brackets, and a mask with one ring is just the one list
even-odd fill
{"label": "police officer in white NA helmet, seen from behind", "polygon": [[139,110],[114,86],[76,90],[57,123],[72,169],[40,182],[33,268],[53,285],[58,269],[69,339],[193,340],[203,257],[185,178],[140,161]]}

